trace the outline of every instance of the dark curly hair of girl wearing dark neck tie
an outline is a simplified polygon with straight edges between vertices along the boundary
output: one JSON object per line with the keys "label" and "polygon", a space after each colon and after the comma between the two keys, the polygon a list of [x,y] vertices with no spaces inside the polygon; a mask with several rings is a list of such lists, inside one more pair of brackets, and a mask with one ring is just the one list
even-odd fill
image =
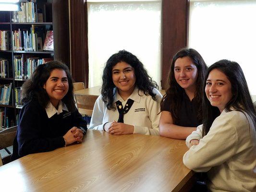
{"label": "dark curly hair of girl wearing dark neck tie", "polygon": [[[104,103],[107,104],[107,108],[115,110],[116,107],[113,104],[114,100],[114,88],[115,84],[112,80],[112,68],[119,62],[126,62],[134,68],[135,72],[135,85],[137,88],[148,96],[152,96],[156,100],[156,94],[153,93],[153,88],[158,89],[158,85],[152,78],[147,74],[142,62],[132,53],[121,50],[118,53],[113,54],[106,62],[103,75],[102,75],[102,87],[101,95]],[[139,94],[139,92],[138,92]]]}

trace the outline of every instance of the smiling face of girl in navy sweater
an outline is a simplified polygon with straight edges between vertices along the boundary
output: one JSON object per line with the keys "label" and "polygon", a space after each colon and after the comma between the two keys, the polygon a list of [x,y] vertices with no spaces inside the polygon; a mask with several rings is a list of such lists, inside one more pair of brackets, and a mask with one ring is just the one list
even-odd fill
{"label": "smiling face of girl in navy sweater", "polygon": [[44,84],[50,102],[57,108],[59,101],[68,93],[69,84],[67,74],[64,70],[54,69]]}

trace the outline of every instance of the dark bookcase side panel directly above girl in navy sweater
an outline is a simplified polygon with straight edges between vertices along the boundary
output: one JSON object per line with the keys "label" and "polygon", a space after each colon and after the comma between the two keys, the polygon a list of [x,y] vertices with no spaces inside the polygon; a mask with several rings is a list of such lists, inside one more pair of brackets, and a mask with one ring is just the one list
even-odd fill
{"label": "dark bookcase side panel directly above girl in navy sweater", "polygon": [[68,12],[68,0],[52,1],[54,60],[59,60],[70,68]]}

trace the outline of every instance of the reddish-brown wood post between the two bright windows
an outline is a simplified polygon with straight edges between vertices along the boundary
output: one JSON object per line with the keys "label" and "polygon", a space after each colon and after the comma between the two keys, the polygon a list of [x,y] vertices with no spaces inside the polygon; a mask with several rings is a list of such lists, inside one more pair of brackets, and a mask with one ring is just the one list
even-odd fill
{"label": "reddish-brown wood post between the two bright windows", "polygon": [[162,0],[162,89],[167,88],[170,63],[187,46],[188,0]]}

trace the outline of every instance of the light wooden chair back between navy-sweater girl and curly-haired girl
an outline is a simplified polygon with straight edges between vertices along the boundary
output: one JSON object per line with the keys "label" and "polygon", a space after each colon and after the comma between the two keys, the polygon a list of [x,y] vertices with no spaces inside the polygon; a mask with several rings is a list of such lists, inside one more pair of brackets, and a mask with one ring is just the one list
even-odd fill
{"label": "light wooden chair back between navy-sweater girl and curly-haired girl", "polygon": [[92,116],[93,107],[98,96],[75,94],[77,108],[80,114]]}

